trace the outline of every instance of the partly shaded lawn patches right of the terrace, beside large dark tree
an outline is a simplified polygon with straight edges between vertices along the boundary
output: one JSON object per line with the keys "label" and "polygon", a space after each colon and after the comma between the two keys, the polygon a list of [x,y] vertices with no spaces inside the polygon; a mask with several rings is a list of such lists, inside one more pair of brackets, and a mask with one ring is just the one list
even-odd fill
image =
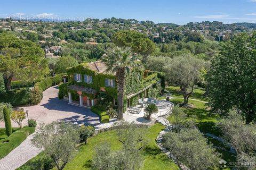
{"label": "partly shaded lawn patches right of the terrace, beside large dark tree", "polygon": [[[172,90],[172,91],[171,91]],[[173,94],[172,97],[182,97],[179,94],[179,87],[170,87],[169,91]],[[195,94],[191,95],[191,98],[207,101],[207,98],[202,96],[204,94],[203,90],[195,89]],[[171,99],[174,104],[181,104],[183,99]],[[200,101],[189,100],[190,108],[183,108],[184,112],[188,115],[189,118],[195,118],[198,129],[203,133],[212,133],[214,135],[219,136],[220,130],[218,129],[217,123],[220,119],[218,114],[213,114],[209,111],[209,107],[207,103],[203,103]],[[167,119],[172,123],[174,121],[174,117],[170,115]],[[209,143],[213,143],[215,147],[226,148],[223,143],[215,140],[213,138],[207,137]],[[221,149],[217,149],[217,151],[221,154],[221,158],[226,160],[227,162],[234,162],[236,160],[235,155],[230,154],[228,151],[224,151]],[[222,168],[223,169],[223,168]],[[226,168],[229,169],[229,168]]]}

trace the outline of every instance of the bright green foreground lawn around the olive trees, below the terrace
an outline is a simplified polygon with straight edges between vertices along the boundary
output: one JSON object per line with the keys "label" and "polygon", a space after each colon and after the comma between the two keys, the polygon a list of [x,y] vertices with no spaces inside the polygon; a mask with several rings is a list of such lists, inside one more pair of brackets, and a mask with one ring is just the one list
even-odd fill
{"label": "bright green foreground lawn around the olive trees, below the terrace", "polygon": [[[147,136],[149,143],[146,149],[143,150],[144,164],[142,169],[179,169],[178,166],[174,164],[172,160],[169,159],[165,154],[163,154],[156,145],[156,137],[163,129],[164,126],[161,124],[155,124],[148,129]],[[113,150],[121,148],[121,143],[117,140],[115,130],[99,133],[94,137],[89,138],[87,145],[83,145],[78,148],[75,158],[68,163],[64,169],[91,169],[91,160],[94,154],[94,147],[104,141],[111,143]],[[40,157],[43,157],[42,154],[39,154],[35,158],[29,160],[28,163],[19,169],[26,169],[25,167],[29,167],[29,165],[35,165]]]}

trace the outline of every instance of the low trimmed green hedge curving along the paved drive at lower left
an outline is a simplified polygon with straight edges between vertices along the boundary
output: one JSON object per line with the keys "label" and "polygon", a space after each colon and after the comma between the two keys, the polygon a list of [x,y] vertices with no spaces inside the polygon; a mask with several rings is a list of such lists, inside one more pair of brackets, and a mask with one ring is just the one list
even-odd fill
{"label": "low trimmed green hedge curving along the paved drive at lower left", "polygon": [[13,132],[10,137],[0,140],[0,159],[8,155],[14,148],[18,147],[29,134],[35,132],[35,128],[22,128]]}

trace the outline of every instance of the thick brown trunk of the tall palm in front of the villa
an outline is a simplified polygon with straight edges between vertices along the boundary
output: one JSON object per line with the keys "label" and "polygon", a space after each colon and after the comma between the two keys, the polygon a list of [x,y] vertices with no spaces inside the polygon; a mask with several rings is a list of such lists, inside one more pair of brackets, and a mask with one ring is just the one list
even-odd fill
{"label": "thick brown trunk of the tall palm in front of the villa", "polygon": [[116,71],[117,84],[117,119],[123,120],[124,111],[124,83],[125,83],[125,69],[121,68]]}

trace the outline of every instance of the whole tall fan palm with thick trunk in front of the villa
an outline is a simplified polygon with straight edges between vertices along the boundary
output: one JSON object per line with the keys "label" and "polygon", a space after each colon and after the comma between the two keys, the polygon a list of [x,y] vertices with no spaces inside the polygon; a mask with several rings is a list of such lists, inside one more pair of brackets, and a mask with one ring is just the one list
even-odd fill
{"label": "whole tall fan palm with thick trunk in front of the villa", "polygon": [[123,119],[125,74],[136,65],[137,58],[132,55],[130,47],[114,47],[107,50],[107,56],[102,59],[107,71],[116,73],[117,86],[117,118]]}

